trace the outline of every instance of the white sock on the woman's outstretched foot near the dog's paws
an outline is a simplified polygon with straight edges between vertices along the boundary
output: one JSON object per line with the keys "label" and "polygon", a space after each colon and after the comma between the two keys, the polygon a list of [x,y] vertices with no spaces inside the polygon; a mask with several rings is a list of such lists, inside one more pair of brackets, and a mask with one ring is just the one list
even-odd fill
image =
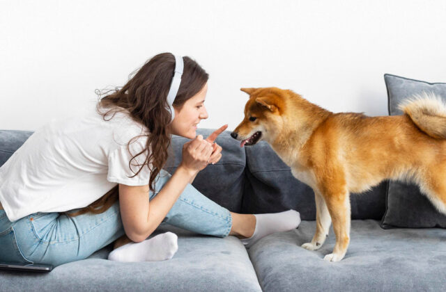
{"label": "white sock on the woman's outstretched foot near the dog's paws", "polygon": [[246,245],[246,248],[250,248],[251,245],[263,236],[275,232],[286,232],[297,228],[300,224],[300,214],[294,210],[280,213],[254,214],[254,216],[256,216],[254,234],[249,238],[240,239]]}

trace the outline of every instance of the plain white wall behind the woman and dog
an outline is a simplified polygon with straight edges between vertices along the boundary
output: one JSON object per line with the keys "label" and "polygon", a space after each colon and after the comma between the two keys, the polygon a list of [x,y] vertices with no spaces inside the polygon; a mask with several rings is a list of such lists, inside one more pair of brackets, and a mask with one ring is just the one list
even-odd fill
{"label": "plain white wall behind the woman and dog", "polygon": [[384,73],[446,82],[446,1],[0,0],[0,129],[82,113],[164,51],[210,74],[201,127],[236,127],[240,87],[387,115]]}

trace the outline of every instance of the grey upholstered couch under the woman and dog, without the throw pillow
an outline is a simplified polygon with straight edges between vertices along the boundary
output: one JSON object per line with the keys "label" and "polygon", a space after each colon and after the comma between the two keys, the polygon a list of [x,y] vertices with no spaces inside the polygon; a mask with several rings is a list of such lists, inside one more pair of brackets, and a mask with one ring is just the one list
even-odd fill
{"label": "grey upholstered couch under the woman and dog, without the throw pillow", "polygon": [[[201,129],[208,136],[212,130]],[[0,165],[32,132],[0,131]],[[174,137],[167,170],[180,162],[185,138]],[[240,148],[229,131],[217,138],[219,163],[199,173],[194,186],[215,202],[240,213],[296,209],[298,229],[271,234],[246,250],[238,238],[194,234],[162,223],[156,233],[178,234],[178,252],[160,262],[107,260],[108,245],[88,259],[51,273],[0,270],[0,291],[444,291],[446,230],[382,229],[387,182],[352,195],[351,245],[339,262],[323,260],[334,233],[321,250],[300,248],[311,240],[316,209],[312,190],[264,142]],[[0,230],[1,232],[1,230]],[[1,248],[1,247],[0,247]]]}

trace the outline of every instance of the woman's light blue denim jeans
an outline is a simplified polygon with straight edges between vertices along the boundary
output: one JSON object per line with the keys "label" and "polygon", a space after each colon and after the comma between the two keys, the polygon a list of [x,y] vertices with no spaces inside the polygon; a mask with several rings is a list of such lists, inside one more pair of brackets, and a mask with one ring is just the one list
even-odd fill
{"label": "woman's light blue denim jeans", "polygon": [[[155,192],[149,193],[149,200],[157,195],[170,177],[168,172],[160,172]],[[232,226],[231,213],[190,184],[163,222],[219,237],[227,236]],[[123,234],[118,201],[100,214],[70,217],[63,213],[38,212],[15,222],[10,222],[5,211],[0,210],[0,261],[59,266],[86,259]]]}

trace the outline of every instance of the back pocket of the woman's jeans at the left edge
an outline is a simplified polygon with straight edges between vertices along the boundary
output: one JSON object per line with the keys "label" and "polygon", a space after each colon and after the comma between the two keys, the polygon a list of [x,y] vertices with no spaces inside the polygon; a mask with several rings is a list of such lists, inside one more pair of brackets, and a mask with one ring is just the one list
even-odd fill
{"label": "back pocket of the woman's jeans at the left edge", "polygon": [[0,260],[10,263],[33,263],[26,259],[17,245],[14,227],[0,232]]}

